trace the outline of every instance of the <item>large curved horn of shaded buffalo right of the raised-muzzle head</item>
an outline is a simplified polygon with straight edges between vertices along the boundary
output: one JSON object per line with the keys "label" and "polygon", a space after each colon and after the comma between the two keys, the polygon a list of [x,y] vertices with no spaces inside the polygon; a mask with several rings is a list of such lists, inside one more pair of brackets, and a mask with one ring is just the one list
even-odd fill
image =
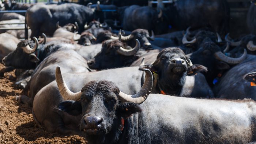
{"label": "large curved horn of shaded buffalo right of the raised-muzzle head", "polygon": [[241,57],[233,58],[228,57],[225,54],[223,54],[221,51],[215,52],[214,56],[221,61],[227,62],[228,64],[239,64],[240,62],[244,61],[247,57],[247,51],[244,49],[244,54]]}

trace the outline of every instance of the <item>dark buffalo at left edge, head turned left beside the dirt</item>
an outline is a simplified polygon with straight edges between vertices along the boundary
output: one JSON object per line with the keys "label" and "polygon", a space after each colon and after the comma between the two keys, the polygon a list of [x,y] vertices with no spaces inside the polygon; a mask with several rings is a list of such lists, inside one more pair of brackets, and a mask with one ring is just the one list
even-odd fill
{"label": "dark buffalo at left edge, head turned left beside the dirt", "polygon": [[58,45],[59,43],[67,45],[69,49],[77,48],[76,45],[66,43],[69,41],[65,39],[50,41],[49,43],[44,40],[42,44],[38,44],[37,38],[34,38],[34,40],[35,43],[31,40],[19,42],[17,48],[3,58],[3,64],[14,68],[31,69],[35,68],[45,57],[61,48],[61,45]]}

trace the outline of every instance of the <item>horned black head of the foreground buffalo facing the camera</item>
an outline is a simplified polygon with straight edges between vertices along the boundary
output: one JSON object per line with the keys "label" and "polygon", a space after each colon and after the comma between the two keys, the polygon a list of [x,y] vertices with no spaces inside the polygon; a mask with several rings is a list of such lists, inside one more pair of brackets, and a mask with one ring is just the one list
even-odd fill
{"label": "horned black head of the foreground buffalo facing the camera", "polygon": [[65,100],[57,107],[71,115],[82,115],[80,130],[89,143],[115,141],[123,130],[121,118],[126,119],[142,111],[138,104],[144,102],[151,91],[153,76],[148,69],[145,72],[142,89],[135,95],[124,94],[108,81],[91,81],[81,91],[74,93],[68,89],[57,67],[56,82]]}

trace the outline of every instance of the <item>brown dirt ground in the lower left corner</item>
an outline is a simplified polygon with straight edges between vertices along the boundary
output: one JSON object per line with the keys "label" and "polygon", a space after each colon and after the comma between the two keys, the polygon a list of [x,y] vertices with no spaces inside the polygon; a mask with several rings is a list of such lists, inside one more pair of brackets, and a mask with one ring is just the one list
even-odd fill
{"label": "brown dirt ground in the lower left corner", "polygon": [[[4,68],[0,64],[0,69]],[[14,71],[0,77],[0,144],[84,144],[79,136],[60,136],[49,133],[35,125],[32,108],[16,101],[22,90],[14,86]]]}

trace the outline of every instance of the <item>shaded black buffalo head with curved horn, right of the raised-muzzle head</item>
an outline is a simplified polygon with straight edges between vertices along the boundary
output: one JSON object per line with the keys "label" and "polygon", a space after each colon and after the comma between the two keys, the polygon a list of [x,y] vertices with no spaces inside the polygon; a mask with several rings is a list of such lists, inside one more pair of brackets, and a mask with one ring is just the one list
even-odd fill
{"label": "shaded black buffalo head with curved horn, right of the raised-muzzle head", "polygon": [[223,49],[215,42],[212,42],[209,38],[205,38],[199,49],[189,54],[189,58],[193,64],[200,64],[207,67],[208,72],[205,74],[206,80],[210,86],[213,86],[218,79],[217,77],[221,76],[232,65],[244,61],[246,55],[247,52],[244,50],[244,53],[240,57],[228,57],[223,53]]}

